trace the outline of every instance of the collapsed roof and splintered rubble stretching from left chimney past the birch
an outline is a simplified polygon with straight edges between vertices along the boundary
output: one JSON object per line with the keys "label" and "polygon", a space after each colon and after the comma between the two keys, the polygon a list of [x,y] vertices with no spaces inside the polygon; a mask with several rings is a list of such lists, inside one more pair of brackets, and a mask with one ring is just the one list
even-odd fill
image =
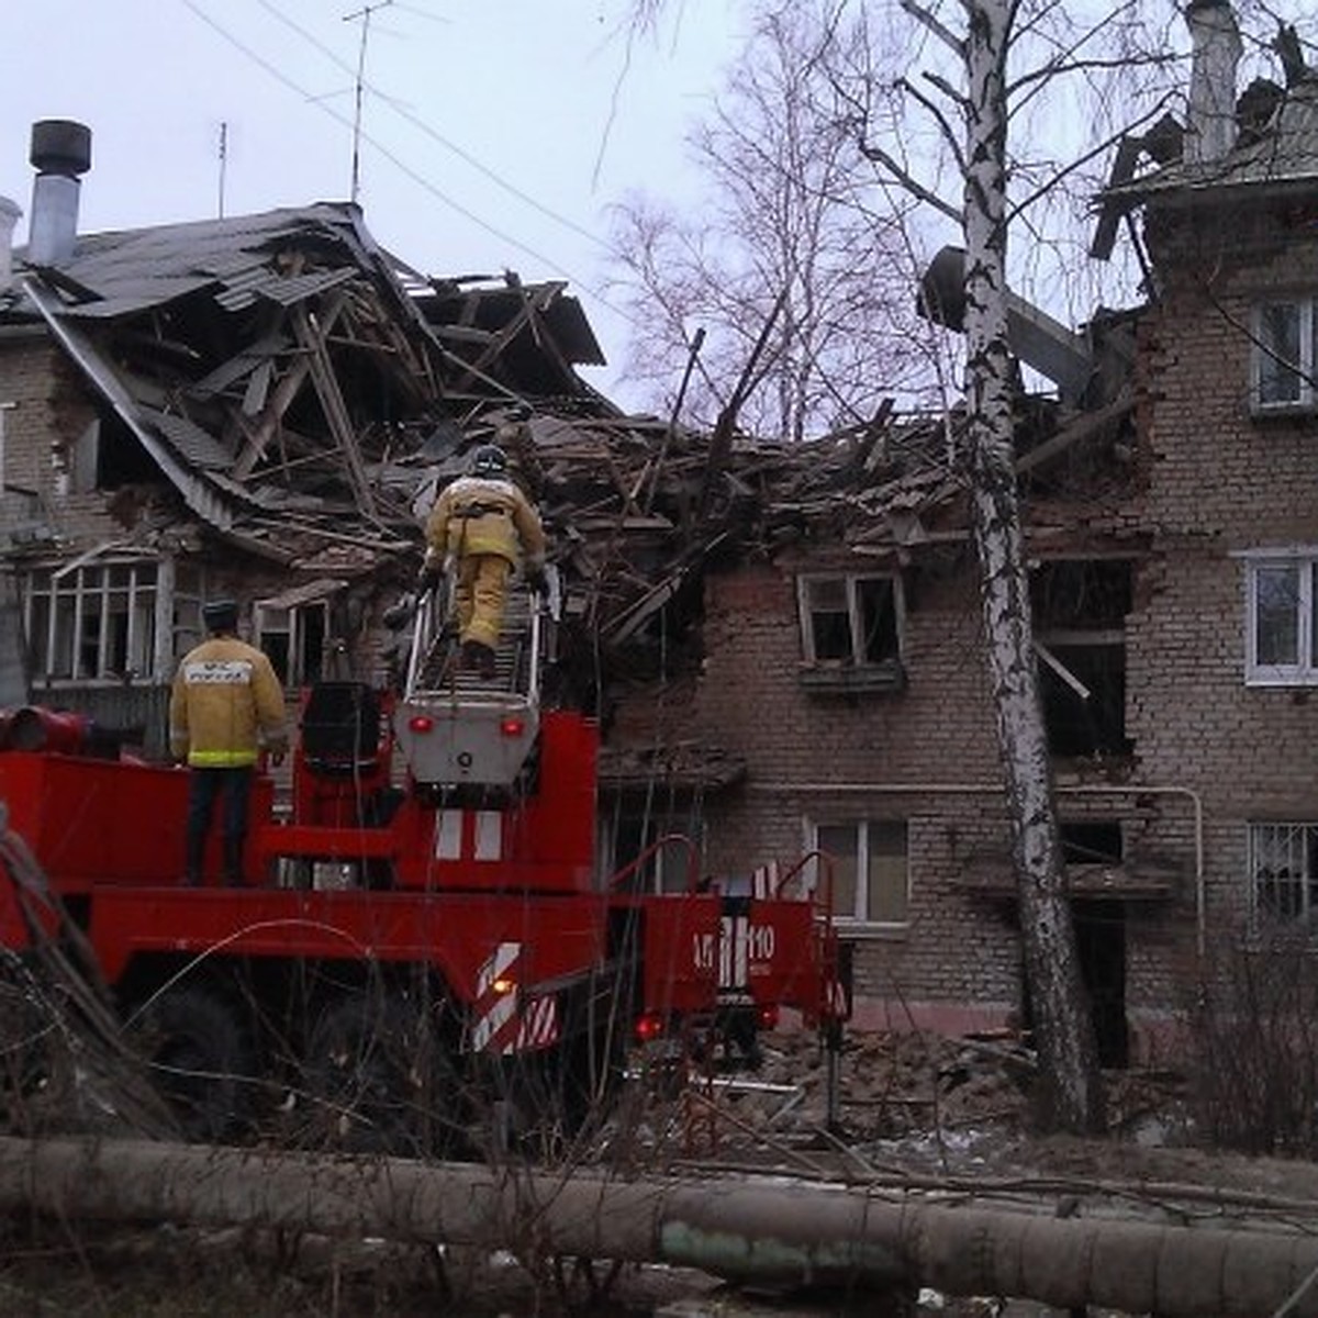
{"label": "collapsed roof and splintered rubble stretching from left chimney past the birch", "polygon": [[[895,419],[803,444],[625,416],[576,374],[602,360],[561,283],[430,281],[355,206],[79,237],[26,268],[26,301],[138,451],[227,543],[291,584],[353,579],[419,544],[419,513],[473,442],[497,436],[568,568],[568,610],[614,671],[700,609],[713,559],[815,543],[904,561],[963,539],[954,420]],[[1049,406],[1020,427],[1054,492],[1124,427]],[[1104,449],[1106,451],[1106,449]],[[1023,468],[1023,472],[1025,468]],[[940,529],[941,527],[941,529]],[[639,655],[638,655],[639,651]]]}

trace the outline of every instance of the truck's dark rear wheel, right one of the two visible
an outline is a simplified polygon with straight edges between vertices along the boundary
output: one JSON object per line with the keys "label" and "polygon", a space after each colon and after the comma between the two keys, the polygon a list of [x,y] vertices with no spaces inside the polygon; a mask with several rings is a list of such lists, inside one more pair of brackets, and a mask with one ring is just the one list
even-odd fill
{"label": "truck's dark rear wheel, right one of the two visible", "polygon": [[460,1085],[428,1014],[402,994],[331,1003],[307,1044],[307,1136],[358,1153],[465,1152]]}

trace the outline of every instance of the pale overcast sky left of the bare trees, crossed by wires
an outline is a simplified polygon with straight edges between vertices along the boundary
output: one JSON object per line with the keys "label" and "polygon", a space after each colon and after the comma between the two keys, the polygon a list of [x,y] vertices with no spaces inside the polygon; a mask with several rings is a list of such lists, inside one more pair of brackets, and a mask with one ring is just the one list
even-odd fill
{"label": "pale overcast sky left of the bare trees, crossed by wires", "polygon": [[[629,0],[370,7],[358,200],[426,274],[567,278],[605,355],[606,212],[629,190],[693,199],[683,137],[741,42],[741,7],[673,0],[629,46]],[[38,119],[91,128],[86,232],[352,195],[362,5],[351,0],[34,0],[5,37],[0,195],[24,210]],[[589,378],[618,401],[612,369]]]}

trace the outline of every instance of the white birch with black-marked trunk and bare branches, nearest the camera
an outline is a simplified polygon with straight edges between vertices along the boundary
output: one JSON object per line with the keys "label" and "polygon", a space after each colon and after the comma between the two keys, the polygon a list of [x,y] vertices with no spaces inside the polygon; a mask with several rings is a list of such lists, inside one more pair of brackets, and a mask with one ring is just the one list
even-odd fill
{"label": "white birch with black-marked trunk and bare branches, nearest the camera", "polygon": [[[1271,45],[1278,14],[1240,5],[1256,46]],[[900,11],[900,14],[899,14]],[[654,5],[650,7],[654,14]],[[878,76],[870,32],[903,30],[900,65]],[[950,14],[950,17],[949,17]],[[817,47],[828,63],[840,123],[861,124],[862,153],[879,177],[958,231],[965,261],[965,469],[981,563],[986,662],[1012,818],[1025,973],[1046,1099],[1044,1115],[1069,1130],[1102,1119],[1103,1098],[1065,896],[1052,771],[1031,625],[1024,535],[1012,467],[1016,364],[1007,336],[1012,275],[1050,277],[1075,297],[1087,212],[1111,148],[1166,109],[1184,72],[1169,75],[1184,26],[1174,7],[1056,0],[838,0]],[[845,107],[845,108],[844,108]],[[960,185],[948,200],[946,179]],[[854,188],[855,185],[850,185]],[[898,223],[898,217],[894,217]],[[1012,264],[1008,235],[1017,235]],[[1024,239],[1025,241],[1020,241]],[[1069,244],[1069,245],[1066,245]],[[654,252],[662,254],[658,245]],[[658,269],[658,265],[656,265]],[[1103,270],[1102,273],[1108,273]],[[1127,291],[1133,285],[1127,285]],[[1079,294],[1083,297],[1085,294]],[[1044,301],[1037,295],[1033,301]],[[1075,315],[1072,302],[1062,315]],[[680,310],[685,310],[681,307]],[[1068,315],[1068,310],[1072,312]]]}

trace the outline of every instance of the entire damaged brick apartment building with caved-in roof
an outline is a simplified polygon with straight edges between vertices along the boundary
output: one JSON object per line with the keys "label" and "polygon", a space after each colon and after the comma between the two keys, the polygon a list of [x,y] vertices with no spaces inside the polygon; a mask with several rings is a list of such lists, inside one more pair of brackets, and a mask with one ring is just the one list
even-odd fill
{"label": "entire damaged brick apartment building with caved-in roof", "polygon": [[[1230,9],[1191,8],[1230,47]],[[1288,72],[1239,120],[1119,153],[1095,254],[1140,216],[1148,306],[1078,335],[1014,307],[1057,386],[1020,398],[1017,473],[1114,1064],[1149,1056],[1197,953],[1306,921],[1318,882],[1318,86]],[[75,216],[79,142],[55,132],[37,163]],[[625,416],[576,373],[601,355],[560,285],[422,278],[348,206],[70,217],[55,244],[5,266],[5,701],[152,750],[217,589],[290,688],[385,677],[418,514],[498,436],[567,584],[564,681],[605,730],[601,876],[670,833],[747,883],[820,883],[826,855],[861,1023],[1028,1014],[954,416],[801,445]],[[956,286],[954,262],[931,275]],[[684,866],[660,850],[637,880]]]}

